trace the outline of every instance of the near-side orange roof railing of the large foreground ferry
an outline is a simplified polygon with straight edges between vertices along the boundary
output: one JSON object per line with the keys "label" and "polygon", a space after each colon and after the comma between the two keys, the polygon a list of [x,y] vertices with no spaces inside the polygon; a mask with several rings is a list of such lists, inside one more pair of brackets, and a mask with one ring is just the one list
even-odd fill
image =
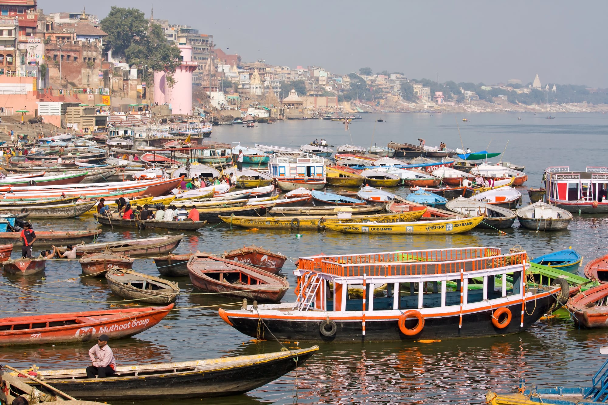
{"label": "near-side orange roof railing of the large foreground ferry", "polygon": [[526,252],[516,252],[499,256],[469,258],[453,261],[414,261],[404,260],[393,263],[362,263],[345,265],[330,260],[321,260],[320,271],[337,277],[370,277],[458,274],[460,271],[472,272],[488,269],[505,268],[513,265],[525,265],[528,262]]}

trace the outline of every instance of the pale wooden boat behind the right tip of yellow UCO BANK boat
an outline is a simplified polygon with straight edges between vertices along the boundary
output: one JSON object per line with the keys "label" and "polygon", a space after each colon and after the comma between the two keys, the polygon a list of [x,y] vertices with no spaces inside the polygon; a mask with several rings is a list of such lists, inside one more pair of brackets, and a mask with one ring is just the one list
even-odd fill
{"label": "pale wooden boat behind the right tip of yellow UCO BANK boat", "polygon": [[485,202],[458,197],[446,203],[446,209],[466,216],[484,216],[477,227],[486,229],[505,229],[513,226],[516,215],[510,209],[491,206]]}

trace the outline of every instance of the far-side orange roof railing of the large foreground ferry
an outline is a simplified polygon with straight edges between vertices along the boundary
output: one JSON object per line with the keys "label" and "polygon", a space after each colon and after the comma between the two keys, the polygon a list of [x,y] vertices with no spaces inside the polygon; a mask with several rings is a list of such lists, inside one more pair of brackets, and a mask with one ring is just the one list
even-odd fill
{"label": "far-side orange roof railing of the large foreground ferry", "polygon": [[423,249],[417,251],[374,252],[355,255],[317,255],[300,257],[300,270],[319,269],[323,260],[344,265],[367,265],[370,263],[391,263],[409,261],[454,261],[500,255],[499,247],[455,247],[451,249]]}

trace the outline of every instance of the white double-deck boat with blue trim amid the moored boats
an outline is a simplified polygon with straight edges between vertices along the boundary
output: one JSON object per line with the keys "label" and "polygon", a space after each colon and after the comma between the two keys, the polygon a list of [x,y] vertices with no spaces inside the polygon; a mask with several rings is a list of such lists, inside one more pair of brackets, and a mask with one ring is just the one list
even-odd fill
{"label": "white double-deck boat with blue trim amid the moored boats", "polygon": [[268,171],[282,190],[320,190],[325,187],[325,160],[305,152],[272,154]]}

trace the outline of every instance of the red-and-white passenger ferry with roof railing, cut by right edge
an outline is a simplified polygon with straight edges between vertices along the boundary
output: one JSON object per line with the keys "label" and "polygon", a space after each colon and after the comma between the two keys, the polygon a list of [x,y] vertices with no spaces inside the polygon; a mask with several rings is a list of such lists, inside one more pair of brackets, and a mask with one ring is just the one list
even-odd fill
{"label": "red-and-white passenger ferry with roof railing, cut by right edge", "polygon": [[570,212],[608,212],[608,167],[588,166],[570,171],[568,166],[548,167],[547,201]]}

